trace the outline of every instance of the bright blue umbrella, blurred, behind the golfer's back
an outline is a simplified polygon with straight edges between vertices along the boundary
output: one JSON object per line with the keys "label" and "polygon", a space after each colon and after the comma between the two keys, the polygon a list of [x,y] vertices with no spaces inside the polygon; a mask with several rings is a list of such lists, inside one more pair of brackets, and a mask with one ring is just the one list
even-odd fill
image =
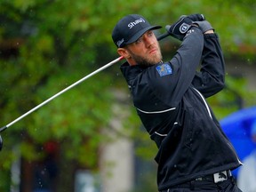
{"label": "bright blue umbrella, blurred, behind the golfer's back", "polygon": [[[252,142],[252,124],[256,122],[256,107],[244,108],[220,120],[223,131],[236,149],[237,155],[243,162],[244,157],[256,148]],[[237,176],[237,169],[233,172]]]}

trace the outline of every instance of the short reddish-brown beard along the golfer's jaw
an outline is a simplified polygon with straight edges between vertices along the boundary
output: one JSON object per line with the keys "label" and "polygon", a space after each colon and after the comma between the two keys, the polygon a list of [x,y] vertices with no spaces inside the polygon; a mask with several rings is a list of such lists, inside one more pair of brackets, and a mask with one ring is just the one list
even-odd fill
{"label": "short reddish-brown beard along the golfer's jaw", "polygon": [[135,60],[135,62],[138,65],[141,65],[141,66],[146,66],[146,67],[153,66],[161,62],[161,60],[163,59],[159,45],[158,45],[158,52],[156,52],[151,57],[143,57],[143,56],[134,54],[130,49],[127,49],[127,50],[132,56],[132,59]]}

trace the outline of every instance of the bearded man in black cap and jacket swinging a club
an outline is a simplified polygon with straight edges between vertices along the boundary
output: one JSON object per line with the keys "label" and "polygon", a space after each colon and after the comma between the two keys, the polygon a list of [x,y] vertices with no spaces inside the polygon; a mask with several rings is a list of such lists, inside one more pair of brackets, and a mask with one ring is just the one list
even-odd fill
{"label": "bearded man in black cap and jacket swinging a club", "polygon": [[241,191],[230,172],[241,163],[204,99],[224,86],[223,55],[211,24],[198,18],[167,28],[182,41],[169,61],[153,33],[161,27],[140,15],[119,20],[112,39],[126,59],[121,71],[134,107],[158,147],[158,190]]}

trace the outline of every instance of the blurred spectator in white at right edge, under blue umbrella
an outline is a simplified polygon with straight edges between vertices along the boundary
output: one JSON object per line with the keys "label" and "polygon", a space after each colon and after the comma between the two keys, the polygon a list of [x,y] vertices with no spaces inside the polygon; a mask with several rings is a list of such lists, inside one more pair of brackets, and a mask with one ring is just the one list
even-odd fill
{"label": "blurred spectator in white at right edge, under blue umbrella", "polygon": [[[256,143],[256,121],[252,124],[252,141]],[[237,186],[244,192],[256,192],[256,149],[246,156],[237,173]]]}

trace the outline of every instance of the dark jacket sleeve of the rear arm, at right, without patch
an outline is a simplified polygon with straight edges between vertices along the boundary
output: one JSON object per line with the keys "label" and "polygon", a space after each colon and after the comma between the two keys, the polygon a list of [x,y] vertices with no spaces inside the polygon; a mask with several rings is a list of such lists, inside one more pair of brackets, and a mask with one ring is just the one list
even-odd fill
{"label": "dark jacket sleeve of the rear arm, at right, without patch", "polygon": [[207,98],[223,89],[224,77],[225,62],[219,37],[216,34],[205,34],[202,65],[192,84]]}

